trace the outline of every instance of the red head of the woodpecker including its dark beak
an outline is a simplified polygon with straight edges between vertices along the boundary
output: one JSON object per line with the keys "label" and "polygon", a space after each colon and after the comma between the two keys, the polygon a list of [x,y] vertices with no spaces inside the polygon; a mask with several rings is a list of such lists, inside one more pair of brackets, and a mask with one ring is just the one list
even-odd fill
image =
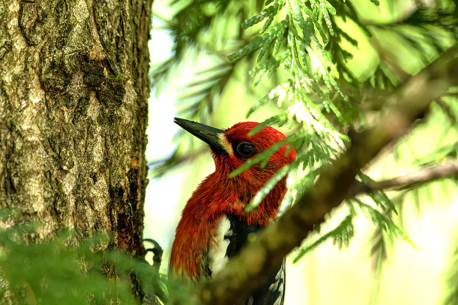
{"label": "red head of the woodpecker including its dark beak", "polygon": [[237,188],[243,187],[249,193],[257,192],[282,166],[293,162],[296,158],[294,148],[285,154],[288,146],[285,144],[275,151],[264,167],[261,167],[260,163],[253,164],[249,169],[231,179],[229,174],[232,171],[248,159],[285,139],[285,136],[269,126],[254,135],[249,135],[249,132],[259,125],[255,122],[237,123],[225,130],[182,118],[175,118],[175,123],[209,144],[215,162],[215,172],[220,180],[232,180],[231,185]]}

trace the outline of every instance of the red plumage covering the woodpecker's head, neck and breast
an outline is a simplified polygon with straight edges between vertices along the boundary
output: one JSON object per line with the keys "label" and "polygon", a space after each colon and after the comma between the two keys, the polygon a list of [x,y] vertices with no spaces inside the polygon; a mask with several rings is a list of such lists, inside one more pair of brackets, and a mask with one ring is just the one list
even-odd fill
{"label": "red plumage covering the woodpecker's head, neck and breast", "polygon": [[170,271],[192,280],[202,276],[203,253],[213,241],[218,219],[230,214],[247,225],[264,227],[276,216],[278,207],[287,191],[285,179],[281,179],[264,200],[253,211],[246,213],[245,207],[257,191],[285,164],[296,158],[294,148],[284,156],[287,145],[278,149],[267,165],[251,166],[240,175],[229,178],[233,170],[242,165],[246,158],[234,154],[234,145],[247,141],[254,145],[256,153],[261,153],[285,136],[271,127],[248,136],[248,132],[258,125],[255,122],[242,122],[224,130],[219,136],[225,152],[212,149],[215,172],[207,176],[193,192],[182,212],[170,257]]}

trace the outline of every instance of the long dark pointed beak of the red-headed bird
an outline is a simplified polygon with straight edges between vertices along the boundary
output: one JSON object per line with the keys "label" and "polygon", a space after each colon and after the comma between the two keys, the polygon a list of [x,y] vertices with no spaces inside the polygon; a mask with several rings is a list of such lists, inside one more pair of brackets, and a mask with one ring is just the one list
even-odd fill
{"label": "long dark pointed beak of the red-headed bird", "polygon": [[190,134],[209,144],[215,153],[222,154],[226,152],[224,146],[221,145],[220,138],[220,134],[224,133],[223,130],[178,117],[174,118],[174,122]]}

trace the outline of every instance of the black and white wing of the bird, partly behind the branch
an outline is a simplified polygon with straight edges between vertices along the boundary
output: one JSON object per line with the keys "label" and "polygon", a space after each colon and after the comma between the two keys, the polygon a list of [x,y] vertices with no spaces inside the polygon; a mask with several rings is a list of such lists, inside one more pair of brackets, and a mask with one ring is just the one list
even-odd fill
{"label": "black and white wing of the bird, partly behind the branch", "polygon": [[[214,245],[207,253],[207,276],[222,269],[228,258],[237,255],[246,244],[248,235],[261,230],[260,226],[249,226],[235,216],[221,218],[215,234]],[[268,280],[260,283],[251,295],[235,305],[283,305],[285,288],[285,262],[275,268]]]}

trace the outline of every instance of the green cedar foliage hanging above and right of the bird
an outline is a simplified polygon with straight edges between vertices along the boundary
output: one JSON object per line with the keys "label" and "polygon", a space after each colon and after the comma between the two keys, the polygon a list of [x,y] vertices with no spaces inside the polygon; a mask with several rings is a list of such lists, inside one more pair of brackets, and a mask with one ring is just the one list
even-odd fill
{"label": "green cedar foliage hanging above and right of the bird", "polygon": [[[429,5],[416,1],[404,11],[396,11],[403,1],[384,2],[391,8],[390,17],[384,19],[377,16],[380,3],[376,0],[197,1],[183,6],[179,6],[181,2],[173,2],[176,5],[173,17],[161,20],[164,28],[171,31],[175,53],[153,69],[153,77],[159,83],[173,80],[175,67],[189,54],[186,49],[209,54],[215,62],[207,70],[198,70],[195,79],[183,88],[185,94],[179,96],[178,116],[205,124],[228,80],[237,77],[239,67],[245,70],[250,67],[244,73],[246,81],[252,87],[257,86],[263,97],[251,106],[246,118],[268,104],[278,106],[277,113],[266,117],[252,133],[266,125],[287,126],[292,131],[287,140],[253,157],[232,173],[232,176],[240,174],[256,163],[265,165],[284,143],[291,143],[297,151],[297,160],[277,172],[250,202],[248,211],[288,173],[294,181],[283,207],[294,204],[295,198],[313,186],[322,166],[338,158],[351,144],[349,133],[364,130],[377,120],[389,103],[381,100],[381,96],[395,92],[408,76],[456,44],[457,1],[435,1]],[[373,8],[368,8],[369,5]],[[196,17],[194,12],[205,13]],[[232,26],[234,23],[240,26]],[[376,52],[377,63],[364,73],[355,73],[349,65],[352,50],[363,43],[371,45]],[[415,58],[413,67],[404,65],[406,58]],[[160,91],[161,87],[157,89]],[[458,156],[456,97],[456,90],[450,90],[433,103],[427,116],[419,118],[409,135],[393,143],[392,153],[408,163],[412,171]],[[412,154],[413,158],[406,158],[403,154],[412,139],[438,120],[444,122],[441,138],[448,141],[439,140],[428,155]],[[180,131],[177,138],[182,137],[189,135]],[[152,163],[150,174],[160,177],[185,162],[189,150],[182,146],[179,143],[170,158]],[[372,181],[364,172],[359,174],[359,180],[362,184]],[[456,185],[456,177],[449,181],[441,182],[441,187]],[[318,226],[316,234],[307,238],[294,254],[294,261],[328,238],[338,247],[348,246],[354,235],[352,220],[364,215],[374,224],[373,236],[368,240],[369,253],[374,270],[380,272],[394,238],[400,237],[417,249],[402,229],[402,206],[407,197],[420,198],[419,192],[429,194],[431,189],[427,184],[411,185],[390,196],[375,191],[367,194],[369,200],[360,196],[348,200],[347,216],[328,232],[321,232]],[[416,200],[418,205],[420,201]]]}

